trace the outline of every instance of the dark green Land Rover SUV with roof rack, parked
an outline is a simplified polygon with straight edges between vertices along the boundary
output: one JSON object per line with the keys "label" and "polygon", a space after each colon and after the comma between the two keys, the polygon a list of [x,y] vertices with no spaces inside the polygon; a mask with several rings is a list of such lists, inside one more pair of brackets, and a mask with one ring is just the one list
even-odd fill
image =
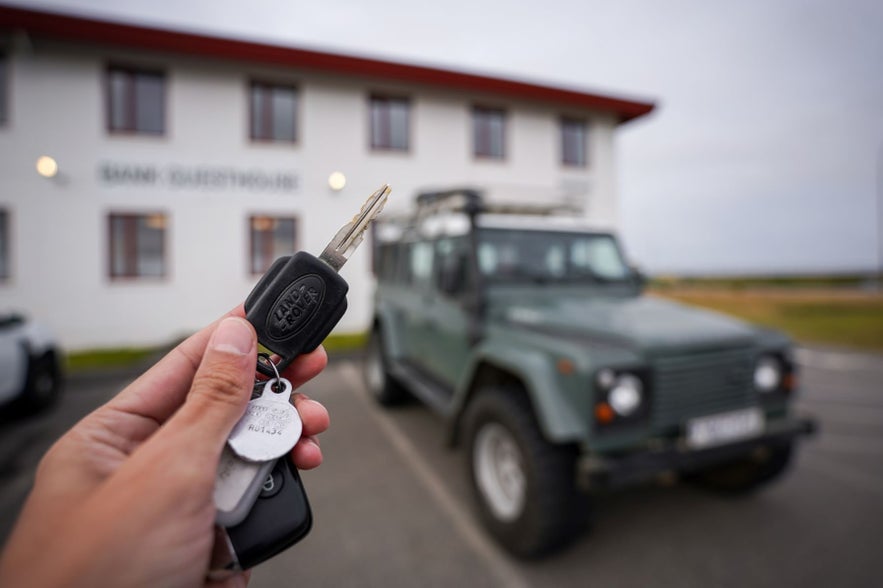
{"label": "dark green Land Rover SUV with roof rack, parked", "polygon": [[586,491],[678,474],[747,492],[813,430],[783,335],[643,295],[614,234],[556,212],[438,192],[374,233],[368,389],[445,419],[484,525],[522,557],[582,528]]}

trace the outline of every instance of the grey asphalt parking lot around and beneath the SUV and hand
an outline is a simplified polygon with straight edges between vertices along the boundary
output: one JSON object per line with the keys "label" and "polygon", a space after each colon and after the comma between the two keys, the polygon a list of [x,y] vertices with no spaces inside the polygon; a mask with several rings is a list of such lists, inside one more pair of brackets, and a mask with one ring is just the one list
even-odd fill
{"label": "grey asphalt parking lot around and beneath the SUV and hand", "polygon": [[[539,562],[499,551],[472,517],[463,457],[417,404],[381,410],[357,365],[305,390],[332,415],[326,463],[303,474],[315,526],[252,586],[872,586],[883,576],[883,361],[802,350],[799,412],[821,434],[793,471],[740,500],[688,485],[596,497],[595,524]],[[50,439],[126,381],[72,383],[53,414],[0,425],[0,537]]]}

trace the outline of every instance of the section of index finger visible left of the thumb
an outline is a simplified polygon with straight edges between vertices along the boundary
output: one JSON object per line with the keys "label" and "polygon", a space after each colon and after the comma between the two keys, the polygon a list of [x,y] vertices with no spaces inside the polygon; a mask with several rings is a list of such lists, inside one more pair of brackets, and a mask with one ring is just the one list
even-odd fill
{"label": "section of index finger visible left of the thumb", "polygon": [[244,317],[240,304],[230,312],[191,335],[172,349],[125,390],[108,403],[110,408],[151,419],[161,425],[184,402],[193,376],[202,361],[206,345],[218,324],[228,317]]}

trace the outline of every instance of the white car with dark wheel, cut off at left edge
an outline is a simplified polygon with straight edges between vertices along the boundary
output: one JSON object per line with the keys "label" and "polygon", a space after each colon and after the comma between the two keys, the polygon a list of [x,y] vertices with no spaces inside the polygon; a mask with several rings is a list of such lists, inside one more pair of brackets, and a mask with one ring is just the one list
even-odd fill
{"label": "white car with dark wheel, cut off at left edge", "polygon": [[61,352],[52,333],[20,315],[0,316],[0,406],[33,413],[62,389]]}

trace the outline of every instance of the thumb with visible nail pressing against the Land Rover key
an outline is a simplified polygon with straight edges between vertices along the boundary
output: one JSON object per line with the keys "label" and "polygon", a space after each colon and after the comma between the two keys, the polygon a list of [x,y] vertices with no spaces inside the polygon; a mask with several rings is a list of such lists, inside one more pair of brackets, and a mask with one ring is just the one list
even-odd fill
{"label": "thumb with visible nail pressing against the Land Rover key", "polygon": [[192,453],[220,453],[251,396],[256,354],[251,323],[239,317],[218,323],[183,406],[159,434],[185,434]]}

